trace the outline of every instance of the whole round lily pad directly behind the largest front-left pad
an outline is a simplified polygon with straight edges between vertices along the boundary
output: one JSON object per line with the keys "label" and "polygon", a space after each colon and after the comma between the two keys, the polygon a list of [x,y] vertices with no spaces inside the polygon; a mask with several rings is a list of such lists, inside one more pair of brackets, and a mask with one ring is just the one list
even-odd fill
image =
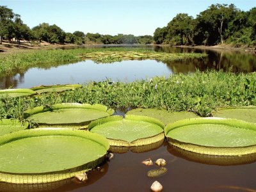
{"label": "whole round lily pad directly behind the largest front-left pad", "polygon": [[29,109],[24,112],[24,117],[39,125],[87,125],[113,112],[100,104],[67,103]]}

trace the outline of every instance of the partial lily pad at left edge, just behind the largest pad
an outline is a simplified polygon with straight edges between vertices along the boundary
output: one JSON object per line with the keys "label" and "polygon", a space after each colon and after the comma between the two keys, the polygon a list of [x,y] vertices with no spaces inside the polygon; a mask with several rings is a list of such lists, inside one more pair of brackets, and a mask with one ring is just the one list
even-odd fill
{"label": "partial lily pad at left edge, just behind the largest pad", "polygon": [[1,119],[0,120],[0,136],[15,131],[20,131],[28,128],[27,122],[20,122],[19,120]]}

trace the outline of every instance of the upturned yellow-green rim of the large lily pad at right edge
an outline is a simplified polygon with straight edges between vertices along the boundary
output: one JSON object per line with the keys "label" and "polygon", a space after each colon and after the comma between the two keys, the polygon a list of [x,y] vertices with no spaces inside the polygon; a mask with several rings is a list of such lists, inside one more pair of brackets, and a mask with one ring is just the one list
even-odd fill
{"label": "upturned yellow-green rim of the large lily pad at right edge", "polygon": [[[233,126],[241,129],[248,129],[256,131],[256,125],[250,122],[245,122],[243,120],[237,120],[232,118],[219,118],[219,117],[208,117],[208,118],[190,118],[185,120],[179,120],[173,124],[168,124],[164,128],[164,134],[168,139],[168,143],[177,148],[182,148],[183,150],[188,150],[190,152],[214,155],[214,156],[239,156],[246,154],[253,154],[256,152],[256,145],[248,145],[242,147],[212,147],[198,145],[194,143],[186,143],[184,141],[175,140],[167,136],[168,132],[173,129],[177,129],[186,125],[195,125],[195,124],[221,124]],[[188,134],[188,133],[184,133]]]}

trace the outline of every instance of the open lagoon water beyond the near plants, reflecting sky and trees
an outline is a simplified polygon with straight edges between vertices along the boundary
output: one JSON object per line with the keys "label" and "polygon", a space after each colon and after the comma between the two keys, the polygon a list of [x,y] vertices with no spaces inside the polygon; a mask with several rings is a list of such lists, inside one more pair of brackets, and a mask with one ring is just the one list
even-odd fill
{"label": "open lagoon water beyond the near plants, reflecting sky and trees", "polygon": [[[109,45],[98,45],[83,47],[109,47]],[[158,52],[185,53],[203,52],[208,54],[206,58],[161,62],[154,60],[145,61],[122,61],[111,64],[95,64],[92,61],[65,65],[65,63],[50,63],[45,68],[31,68],[27,72],[17,73],[15,76],[1,76],[0,89],[4,88],[30,88],[39,84],[77,84],[88,81],[104,81],[111,78],[112,81],[131,82],[154,76],[169,76],[170,74],[188,74],[196,70],[208,69],[223,70],[224,72],[255,72],[256,54],[252,52],[239,52],[227,50],[194,49],[187,47],[169,46],[111,46],[111,47],[139,47]],[[65,47],[66,49],[67,47]],[[70,49],[72,47],[68,47]],[[75,47],[73,47],[75,48]],[[77,47],[76,47],[77,48]],[[83,63],[83,65],[81,64]],[[45,78],[47,77],[47,78]]]}

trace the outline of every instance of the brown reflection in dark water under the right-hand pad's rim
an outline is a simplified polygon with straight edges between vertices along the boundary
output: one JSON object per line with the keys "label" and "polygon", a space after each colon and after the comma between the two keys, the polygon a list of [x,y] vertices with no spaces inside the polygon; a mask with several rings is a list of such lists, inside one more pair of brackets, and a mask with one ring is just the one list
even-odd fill
{"label": "brown reflection in dark water under the right-hand pad's rim", "polygon": [[167,150],[173,156],[181,157],[183,159],[193,161],[196,163],[229,166],[239,164],[250,164],[256,162],[256,153],[244,156],[211,156],[189,152],[187,150],[182,150],[180,148],[173,147],[170,145],[168,145]]}

